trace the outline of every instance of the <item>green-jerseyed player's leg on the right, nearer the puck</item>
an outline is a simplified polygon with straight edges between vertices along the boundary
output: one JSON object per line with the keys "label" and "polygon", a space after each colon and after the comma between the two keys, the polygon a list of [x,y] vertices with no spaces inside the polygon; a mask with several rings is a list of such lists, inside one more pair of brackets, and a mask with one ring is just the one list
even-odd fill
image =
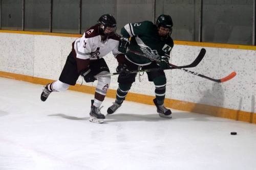
{"label": "green-jerseyed player's leg on the right, nearer the puck", "polygon": [[[152,65],[154,65],[153,63]],[[144,68],[143,68],[144,69]],[[156,98],[153,100],[157,107],[159,116],[172,118],[172,111],[164,107],[165,91],[166,91],[166,77],[163,70],[147,72],[148,81],[153,81],[155,84]]]}

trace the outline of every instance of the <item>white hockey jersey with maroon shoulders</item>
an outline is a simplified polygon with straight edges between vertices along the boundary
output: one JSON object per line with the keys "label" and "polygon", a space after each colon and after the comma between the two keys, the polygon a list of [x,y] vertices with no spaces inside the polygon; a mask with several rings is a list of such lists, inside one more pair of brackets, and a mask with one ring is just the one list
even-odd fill
{"label": "white hockey jersey with maroon shoulders", "polygon": [[116,34],[101,41],[98,25],[95,25],[84,32],[82,37],[75,40],[76,58],[97,60],[110,52],[116,57],[118,54],[122,54],[118,51],[118,43],[119,36]]}

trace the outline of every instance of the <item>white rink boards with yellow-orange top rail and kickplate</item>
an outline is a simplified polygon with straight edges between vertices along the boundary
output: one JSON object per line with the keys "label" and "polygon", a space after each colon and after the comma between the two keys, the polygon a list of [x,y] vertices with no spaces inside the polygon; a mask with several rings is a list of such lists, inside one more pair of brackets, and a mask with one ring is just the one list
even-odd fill
{"label": "white rink boards with yellow-orange top rail and kickplate", "polygon": [[[71,43],[81,35],[0,31],[0,76],[32,83],[45,84],[57,80]],[[171,62],[186,65],[192,62],[201,48],[206,55],[191,71],[208,77],[223,78],[232,71],[237,76],[224,83],[215,83],[184,72],[166,70],[167,107],[210,114],[220,117],[256,123],[255,114],[255,58],[256,46],[175,41]],[[112,54],[104,57],[111,72],[115,72],[117,61]],[[94,93],[94,83],[85,83],[71,89]],[[117,76],[112,77],[108,96],[115,98],[118,87]],[[153,104],[154,84],[147,81],[146,74],[137,76],[127,100]],[[40,91],[38,91],[39,100]]]}

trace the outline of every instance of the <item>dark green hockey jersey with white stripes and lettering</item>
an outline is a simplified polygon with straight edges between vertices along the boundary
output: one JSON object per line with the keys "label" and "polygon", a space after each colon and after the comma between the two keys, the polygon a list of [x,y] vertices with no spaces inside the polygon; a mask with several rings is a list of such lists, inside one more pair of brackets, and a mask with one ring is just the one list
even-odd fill
{"label": "dark green hockey jersey with white stripes and lettering", "polygon": [[[159,59],[160,56],[169,58],[170,51],[174,46],[173,39],[167,37],[161,39],[158,35],[157,26],[151,21],[138,23],[128,23],[121,29],[121,34],[125,38],[131,37],[130,50],[144,54],[147,57]],[[151,64],[152,60],[132,52],[125,54],[126,59],[137,65]]]}

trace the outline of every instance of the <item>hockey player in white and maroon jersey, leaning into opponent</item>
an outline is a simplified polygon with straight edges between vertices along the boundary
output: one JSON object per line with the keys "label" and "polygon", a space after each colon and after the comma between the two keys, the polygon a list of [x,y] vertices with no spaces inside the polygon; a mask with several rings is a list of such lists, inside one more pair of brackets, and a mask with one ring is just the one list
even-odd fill
{"label": "hockey player in white and maroon jersey, leaning into opponent", "polygon": [[[83,36],[72,43],[66,64],[58,81],[47,84],[41,93],[41,101],[46,101],[53,91],[65,91],[70,85],[75,85],[79,76],[86,82],[94,82],[96,75],[110,72],[102,57],[112,52],[115,58],[123,58],[118,51],[119,36],[116,32],[116,20],[110,14],[102,15],[98,23],[86,30]],[[90,121],[103,123],[105,116],[100,112],[106,92],[110,86],[111,77],[99,77],[94,100],[91,101]]]}

